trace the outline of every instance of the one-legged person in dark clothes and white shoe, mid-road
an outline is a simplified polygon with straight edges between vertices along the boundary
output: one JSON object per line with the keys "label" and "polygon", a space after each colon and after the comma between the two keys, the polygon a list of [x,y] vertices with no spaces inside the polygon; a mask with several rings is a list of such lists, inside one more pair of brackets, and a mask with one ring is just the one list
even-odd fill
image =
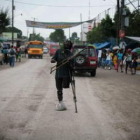
{"label": "one-legged person in dark clothes and white shoe, mid-road", "polygon": [[[51,59],[51,63],[57,62],[56,68],[59,67],[60,63],[63,60],[67,59],[68,57],[72,56],[71,53],[72,43],[71,41],[67,40],[63,47],[58,49],[55,55]],[[55,74],[55,82],[57,88],[57,97],[59,103],[56,105],[57,111],[66,110],[66,106],[63,102],[63,88],[69,88],[70,81],[71,81],[71,70],[72,67],[72,60],[69,63],[64,64],[63,66],[56,69]]]}

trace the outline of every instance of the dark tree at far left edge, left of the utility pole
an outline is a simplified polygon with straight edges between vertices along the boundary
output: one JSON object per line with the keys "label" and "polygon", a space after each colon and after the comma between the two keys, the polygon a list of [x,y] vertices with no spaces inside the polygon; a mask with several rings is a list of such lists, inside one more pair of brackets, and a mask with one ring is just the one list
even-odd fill
{"label": "dark tree at far left edge, left of the utility pole", "polygon": [[8,9],[0,9],[0,33],[2,33],[6,26],[10,25],[10,18],[8,16]]}

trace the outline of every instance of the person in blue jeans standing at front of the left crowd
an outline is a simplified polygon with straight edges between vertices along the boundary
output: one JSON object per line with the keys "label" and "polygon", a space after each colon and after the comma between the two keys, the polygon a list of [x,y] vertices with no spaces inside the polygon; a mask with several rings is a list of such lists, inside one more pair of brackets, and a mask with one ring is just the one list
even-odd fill
{"label": "person in blue jeans standing at front of the left crowd", "polygon": [[10,55],[10,66],[14,67],[16,50],[14,49],[13,45],[11,46],[11,49],[9,50],[9,55]]}

